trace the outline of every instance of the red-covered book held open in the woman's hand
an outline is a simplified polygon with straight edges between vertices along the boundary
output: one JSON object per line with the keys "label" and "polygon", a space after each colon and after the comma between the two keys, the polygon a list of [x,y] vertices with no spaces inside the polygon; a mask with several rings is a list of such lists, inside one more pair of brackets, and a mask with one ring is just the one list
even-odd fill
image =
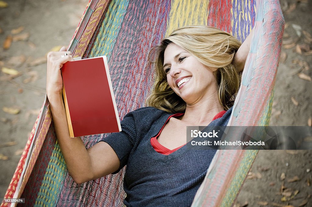
{"label": "red-covered book held open in the woman's hand", "polygon": [[66,62],[61,71],[70,136],[120,132],[106,56]]}

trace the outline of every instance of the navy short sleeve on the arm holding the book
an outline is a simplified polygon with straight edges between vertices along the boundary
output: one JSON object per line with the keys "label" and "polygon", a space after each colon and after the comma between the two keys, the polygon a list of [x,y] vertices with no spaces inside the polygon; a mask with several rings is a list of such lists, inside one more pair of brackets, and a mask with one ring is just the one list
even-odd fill
{"label": "navy short sleeve on the arm holding the book", "polygon": [[120,167],[113,174],[119,172],[125,165],[127,165],[129,154],[134,146],[136,139],[136,127],[134,117],[128,113],[120,122],[121,132],[111,133],[109,136],[100,140],[106,142],[113,148],[117,154]]}

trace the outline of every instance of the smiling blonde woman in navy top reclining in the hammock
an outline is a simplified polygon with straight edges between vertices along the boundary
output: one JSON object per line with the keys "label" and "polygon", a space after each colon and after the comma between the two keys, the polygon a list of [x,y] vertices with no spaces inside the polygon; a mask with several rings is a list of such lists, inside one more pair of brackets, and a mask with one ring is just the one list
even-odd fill
{"label": "smiling blonde woman in navy top reclining in the hammock", "polygon": [[73,59],[66,48],[50,52],[47,96],[74,181],[94,180],[127,165],[125,205],[190,206],[215,151],[189,150],[186,126],[227,125],[249,42],[250,36],[240,47],[230,34],[207,26],[174,31],[150,53],[156,57],[157,71],[147,100],[151,107],[128,113],[121,122],[122,132],[89,149],[80,137],[70,138],[62,100],[60,68]]}

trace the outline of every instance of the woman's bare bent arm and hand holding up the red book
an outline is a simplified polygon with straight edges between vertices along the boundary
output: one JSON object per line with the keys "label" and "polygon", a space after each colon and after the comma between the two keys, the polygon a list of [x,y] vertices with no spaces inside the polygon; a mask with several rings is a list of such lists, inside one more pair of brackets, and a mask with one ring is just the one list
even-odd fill
{"label": "woman's bare bent arm and hand holding up the red book", "polygon": [[[67,53],[65,57],[61,57]],[[99,142],[85,148],[80,137],[69,135],[65,106],[62,98],[63,80],[60,68],[73,58],[63,47],[59,52],[47,56],[46,93],[50,102],[54,129],[58,144],[64,156],[68,172],[78,184],[106,176],[119,169],[120,161],[115,151],[106,142]]]}

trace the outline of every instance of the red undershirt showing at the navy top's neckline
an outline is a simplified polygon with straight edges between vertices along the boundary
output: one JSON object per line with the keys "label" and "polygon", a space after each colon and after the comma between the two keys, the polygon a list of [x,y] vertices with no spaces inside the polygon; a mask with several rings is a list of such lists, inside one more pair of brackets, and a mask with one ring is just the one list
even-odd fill
{"label": "red undershirt showing at the navy top's neckline", "polygon": [[[223,116],[223,114],[225,114],[227,111],[221,111],[219,113],[217,113],[216,116],[213,117],[212,121],[217,119],[217,118],[221,118]],[[169,155],[171,154],[172,152],[175,152],[177,151],[178,149],[180,149],[181,147],[183,147],[185,144],[183,144],[182,146],[180,147],[177,147],[173,150],[170,150],[168,149],[167,147],[164,147],[163,145],[161,145],[158,141],[157,141],[157,138],[158,136],[160,135],[161,131],[163,130],[163,128],[165,127],[166,123],[169,121],[169,119],[171,117],[179,117],[179,116],[182,116],[184,113],[176,113],[176,114],[173,114],[171,116],[168,117],[167,121],[165,122],[165,124],[163,125],[163,127],[160,129],[160,131],[158,132],[158,134],[155,136],[155,137],[152,137],[151,138],[151,145],[152,147],[154,148],[154,150],[160,154],[163,154],[163,155]]]}

